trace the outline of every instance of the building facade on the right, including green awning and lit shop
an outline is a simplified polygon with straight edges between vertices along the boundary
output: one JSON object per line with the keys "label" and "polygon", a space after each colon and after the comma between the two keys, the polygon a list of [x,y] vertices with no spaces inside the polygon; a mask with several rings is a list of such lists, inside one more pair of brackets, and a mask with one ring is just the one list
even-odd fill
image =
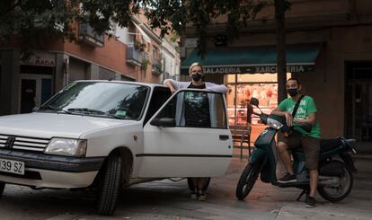
{"label": "building facade on the right, including green awning and lit shop", "polygon": [[[196,35],[191,27],[182,38],[182,74],[191,62],[200,61],[209,79],[230,88],[226,96],[230,125],[246,123],[246,101],[251,97],[259,98],[267,112],[278,105],[274,5],[270,2],[233,42],[221,43],[226,39],[223,23],[211,25],[204,59],[195,54]],[[323,138],[344,135],[372,142],[372,2],[289,2],[288,77],[297,77],[303,93],[314,97]]]}

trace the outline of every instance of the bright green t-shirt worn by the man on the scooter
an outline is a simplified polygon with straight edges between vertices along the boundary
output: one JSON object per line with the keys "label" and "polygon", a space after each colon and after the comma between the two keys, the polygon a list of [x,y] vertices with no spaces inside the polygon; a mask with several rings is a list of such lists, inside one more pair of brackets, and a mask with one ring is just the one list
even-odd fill
{"label": "bright green t-shirt worn by the man on the scooter", "polygon": [[[278,107],[279,107],[280,110],[288,111],[289,113],[292,114],[292,111],[295,108],[295,105],[296,105],[296,101],[293,100],[292,98],[288,98],[288,99],[285,99],[285,100],[281,101]],[[314,113],[314,112],[316,112],[315,102],[314,102],[313,98],[306,95],[306,96],[304,96],[304,98],[302,98],[302,100],[301,100],[301,102],[298,106],[298,109],[297,109],[297,112],[296,112],[296,115],[295,115],[295,119],[308,119],[309,115],[311,113]],[[316,137],[316,138],[320,138],[320,136],[321,136],[320,126],[319,126],[318,120],[316,120],[316,123],[312,127],[310,132],[306,132],[305,130],[300,128],[296,123],[294,125],[294,128],[299,133],[301,133],[303,136],[313,136],[313,137]]]}

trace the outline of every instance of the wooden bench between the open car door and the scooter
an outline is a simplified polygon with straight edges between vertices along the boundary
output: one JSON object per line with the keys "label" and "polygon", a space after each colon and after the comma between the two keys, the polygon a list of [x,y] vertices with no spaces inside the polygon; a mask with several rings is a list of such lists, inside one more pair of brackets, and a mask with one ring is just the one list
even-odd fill
{"label": "wooden bench between the open car door and the scooter", "polygon": [[248,149],[251,156],[251,126],[230,126],[230,131],[234,148],[240,149],[240,158],[243,158],[244,149]]}

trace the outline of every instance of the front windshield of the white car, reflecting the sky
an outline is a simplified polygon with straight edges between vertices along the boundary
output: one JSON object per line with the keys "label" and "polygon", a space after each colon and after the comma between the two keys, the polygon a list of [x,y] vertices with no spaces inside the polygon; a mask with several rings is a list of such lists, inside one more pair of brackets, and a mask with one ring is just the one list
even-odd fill
{"label": "front windshield of the white car, reflecting the sky", "polygon": [[39,111],[138,120],[149,87],[114,82],[74,82],[45,102]]}

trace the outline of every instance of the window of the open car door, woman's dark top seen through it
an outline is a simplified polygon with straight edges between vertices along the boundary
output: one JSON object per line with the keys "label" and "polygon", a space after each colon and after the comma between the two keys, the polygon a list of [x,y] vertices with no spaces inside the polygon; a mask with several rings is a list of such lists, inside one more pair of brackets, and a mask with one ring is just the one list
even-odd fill
{"label": "window of the open car door, woman's dark top seen through it", "polygon": [[173,118],[176,127],[226,128],[224,96],[215,92],[178,92],[156,118]]}

